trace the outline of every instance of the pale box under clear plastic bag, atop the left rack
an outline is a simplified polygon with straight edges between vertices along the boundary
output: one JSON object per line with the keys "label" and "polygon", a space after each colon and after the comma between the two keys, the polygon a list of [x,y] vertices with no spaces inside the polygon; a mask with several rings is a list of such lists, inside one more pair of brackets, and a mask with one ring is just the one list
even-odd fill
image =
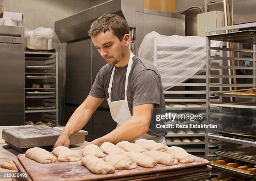
{"label": "pale box under clear plastic bag, atop the left rack", "polygon": [[52,40],[39,38],[37,36],[28,36],[26,38],[26,47],[33,50],[51,50]]}

